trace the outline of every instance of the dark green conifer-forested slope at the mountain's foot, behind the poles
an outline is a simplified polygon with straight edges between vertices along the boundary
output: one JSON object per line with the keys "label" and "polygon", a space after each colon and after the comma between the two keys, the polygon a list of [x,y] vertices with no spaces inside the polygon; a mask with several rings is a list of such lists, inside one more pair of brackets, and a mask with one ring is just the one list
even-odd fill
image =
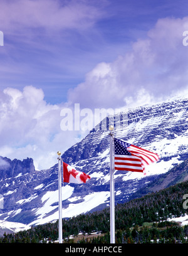
{"label": "dark green conifer-forested slope at the mountain's foot, behind the poles", "polygon": [[[131,200],[128,203],[115,206],[115,228],[117,242],[147,242],[154,240],[174,241],[178,239],[186,242],[187,227],[166,221],[168,218],[183,216],[187,210],[183,207],[183,196],[188,194],[188,181],[170,186],[155,193],[150,193],[142,198]],[[144,227],[145,223],[152,223],[152,228]],[[166,221],[166,222],[164,222]],[[157,222],[157,223],[156,223]],[[164,226],[165,233],[164,233]],[[162,228],[162,230],[161,230]],[[91,233],[98,231],[105,236],[93,238],[91,242],[109,242],[110,209],[95,211],[85,215],[63,220],[63,238],[78,235],[79,232]],[[133,233],[134,230],[134,233]],[[155,231],[155,232],[154,232]],[[147,235],[143,235],[143,232]],[[141,235],[142,234],[142,235]],[[175,238],[176,236],[176,238]],[[144,238],[143,238],[144,237]],[[1,242],[52,242],[58,239],[58,221],[32,227],[30,230],[1,237]],[[80,242],[88,242],[85,239]]]}

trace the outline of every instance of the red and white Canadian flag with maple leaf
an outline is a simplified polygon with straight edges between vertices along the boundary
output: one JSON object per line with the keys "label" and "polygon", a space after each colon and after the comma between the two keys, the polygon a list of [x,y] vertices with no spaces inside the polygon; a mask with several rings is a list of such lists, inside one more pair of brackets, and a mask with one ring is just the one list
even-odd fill
{"label": "red and white Canadian flag with maple leaf", "polygon": [[76,171],[72,166],[63,162],[63,181],[67,183],[86,183],[90,176]]}

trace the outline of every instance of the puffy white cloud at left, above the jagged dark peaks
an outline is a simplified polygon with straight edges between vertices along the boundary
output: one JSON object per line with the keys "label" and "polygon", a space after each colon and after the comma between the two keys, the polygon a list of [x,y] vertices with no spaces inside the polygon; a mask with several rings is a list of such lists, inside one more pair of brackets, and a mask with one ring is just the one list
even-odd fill
{"label": "puffy white cloud at left, above the jagged dark peaks", "polygon": [[33,86],[23,92],[6,88],[0,97],[0,156],[33,157],[36,169],[56,164],[56,152],[75,144],[78,133],[61,131],[62,107],[46,104],[43,90]]}

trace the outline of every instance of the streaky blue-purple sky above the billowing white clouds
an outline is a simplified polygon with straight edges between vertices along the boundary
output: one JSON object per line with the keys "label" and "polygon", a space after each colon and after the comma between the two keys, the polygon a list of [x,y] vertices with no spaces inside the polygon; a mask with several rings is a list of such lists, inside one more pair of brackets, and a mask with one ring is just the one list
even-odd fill
{"label": "streaky blue-purple sky above the billowing white clouds", "polygon": [[[53,104],[65,102],[68,89],[83,82],[98,63],[125,55],[158,19],[187,14],[187,1],[40,0],[1,5],[1,89],[33,85]],[[75,16],[83,14],[63,19],[63,6],[72,7]]]}

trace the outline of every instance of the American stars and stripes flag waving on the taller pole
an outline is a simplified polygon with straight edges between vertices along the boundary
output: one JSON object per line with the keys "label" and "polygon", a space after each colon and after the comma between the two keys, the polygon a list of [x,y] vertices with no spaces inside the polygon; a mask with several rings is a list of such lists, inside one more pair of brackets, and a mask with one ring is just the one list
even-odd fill
{"label": "American stars and stripes flag waving on the taller pole", "polygon": [[145,166],[157,162],[159,156],[141,147],[114,138],[115,170],[143,172]]}

